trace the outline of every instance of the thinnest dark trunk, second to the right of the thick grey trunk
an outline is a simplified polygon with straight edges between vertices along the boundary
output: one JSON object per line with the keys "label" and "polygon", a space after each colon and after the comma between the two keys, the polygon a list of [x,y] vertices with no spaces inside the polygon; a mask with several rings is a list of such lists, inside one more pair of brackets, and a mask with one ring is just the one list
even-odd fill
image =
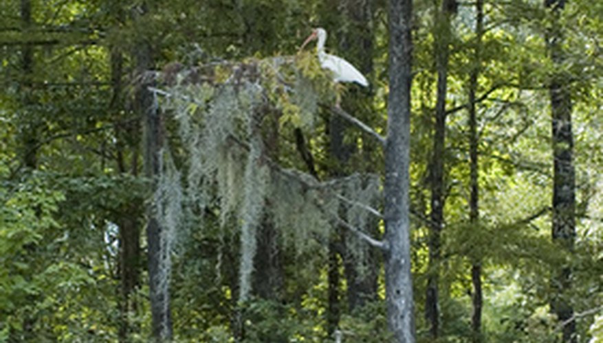
{"label": "thinnest dark trunk, second to the right of the thick grey trunk", "polygon": [[[479,228],[479,137],[477,134],[477,113],[475,96],[477,92],[477,78],[481,66],[481,40],[483,36],[483,0],[477,0],[475,3],[476,24],[475,24],[475,45],[473,56],[473,67],[469,76],[469,159],[470,159],[470,188],[471,195],[469,200],[469,220],[474,228]],[[481,260],[472,261],[471,282],[473,285],[472,305],[473,314],[471,316],[471,327],[473,331],[473,341],[481,342],[481,309],[483,306],[481,290]]]}

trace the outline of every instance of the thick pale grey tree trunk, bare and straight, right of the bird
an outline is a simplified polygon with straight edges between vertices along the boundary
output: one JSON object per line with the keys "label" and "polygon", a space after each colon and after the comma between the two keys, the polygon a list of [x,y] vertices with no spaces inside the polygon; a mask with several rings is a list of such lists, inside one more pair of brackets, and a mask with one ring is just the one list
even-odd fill
{"label": "thick pale grey tree trunk, bare and straight, right of the bird", "polygon": [[385,143],[384,252],[387,322],[397,343],[415,342],[410,274],[410,84],[413,1],[390,0],[389,95]]}

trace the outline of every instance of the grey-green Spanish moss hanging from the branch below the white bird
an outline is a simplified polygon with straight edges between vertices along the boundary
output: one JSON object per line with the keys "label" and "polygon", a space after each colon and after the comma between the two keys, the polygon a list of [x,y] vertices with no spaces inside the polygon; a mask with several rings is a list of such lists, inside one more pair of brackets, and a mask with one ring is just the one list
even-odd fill
{"label": "grey-green Spanish moss hanging from the branch below the white bird", "polygon": [[[256,233],[263,217],[270,216],[283,243],[298,252],[325,241],[336,223],[333,218],[340,215],[353,226],[366,225],[369,211],[363,207],[377,198],[377,176],[319,182],[296,169],[295,158],[278,158],[267,143],[278,135],[283,150],[295,152],[291,143],[287,146],[293,129],[314,130],[319,104],[336,99],[336,87],[316,58],[301,54],[221,62],[172,70],[163,79],[155,91],[163,95],[163,113],[177,123],[184,175],[169,160],[164,172],[171,176],[162,177],[159,187],[180,192],[173,194],[177,201],[171,206],[209,209],[222,230],[238,231],[239,300],[248,300],[252,291]],[[174,182],[180,183],[175,187]],[[197,213],[202,217],[204,211]],[[365,248],[358,248],[358,254]]]}

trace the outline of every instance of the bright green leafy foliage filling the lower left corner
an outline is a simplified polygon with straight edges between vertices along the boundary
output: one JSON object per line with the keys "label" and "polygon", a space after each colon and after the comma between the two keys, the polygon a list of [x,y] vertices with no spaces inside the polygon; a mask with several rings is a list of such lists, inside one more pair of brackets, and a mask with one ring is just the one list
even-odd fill
{"label": "bright green leafy foliage filling the lower left corner", "polygon": [[65,193],[49,182],[34,174],[1,191],[0,329],[9,341],[110,337],[111,303],[94,303],[113,285],[101,270],[65,258],[71,237],[56,216]]}

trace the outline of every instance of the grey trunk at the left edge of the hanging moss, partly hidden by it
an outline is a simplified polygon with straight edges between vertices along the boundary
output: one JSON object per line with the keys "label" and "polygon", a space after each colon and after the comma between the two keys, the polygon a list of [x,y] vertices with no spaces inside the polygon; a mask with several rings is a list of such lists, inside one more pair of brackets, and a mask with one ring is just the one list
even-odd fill
{"label": "grey trunk at the left edge of the hanging moss, partly hidden by it", "polygon": [[[146,8],[141,6],[140,16],[144,16]],[[140,16],[135,20],[142,19]],[[161,150],[163,146],[163,123],[158,113],[153,93],[149,91],[151,84],[147,80],[146,71],[153,67],[153,51],[148,38],[139,37],[133,59],[135,61],[138,89],[135,93],[135,110],[143,120],[144,130],[144,172],[149,180],[153,181],[155,188],[157,178],[161,172]],[[154,211],[154,205],[147,207],[146,241],[148,246],[149,263],[149,299],[151,301],[151,331],[153,340],[164,342],[172,338],[172,318],[170,311],[170,294],[165,285],[164,276],[169,270],[164,270],[163,258],[166,253],[162,251],[162,227]]]}

